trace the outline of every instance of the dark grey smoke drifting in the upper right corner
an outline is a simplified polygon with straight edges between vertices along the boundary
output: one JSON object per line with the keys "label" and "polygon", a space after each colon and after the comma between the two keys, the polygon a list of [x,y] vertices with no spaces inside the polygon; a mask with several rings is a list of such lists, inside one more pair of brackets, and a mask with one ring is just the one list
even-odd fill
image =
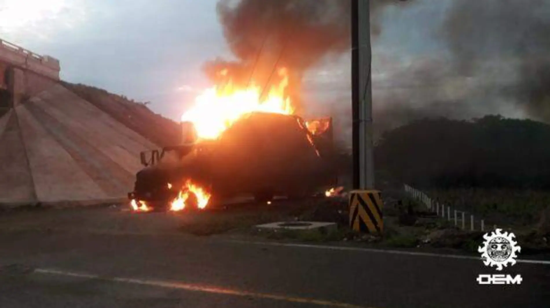
{"label": "dark grey smoke drifting in the upper right corner", "polygon": [[442,37],[463,76],[481,74],[480,66],[491,59],[514,66],[514,81],[498,94],[530,117],[550,121],[548,16],[550,2],[544,0],[454,1]]}

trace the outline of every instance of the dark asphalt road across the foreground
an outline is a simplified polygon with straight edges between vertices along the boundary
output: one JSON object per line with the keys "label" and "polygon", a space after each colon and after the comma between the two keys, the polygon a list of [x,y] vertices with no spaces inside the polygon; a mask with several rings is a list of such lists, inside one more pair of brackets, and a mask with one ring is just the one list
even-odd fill
{"label": "dark asphalt road across the foreground", "polygon": [[[95,210],[36,220],[37,214],[0,219],[2,308],[502,308],[550,303],[550,264],[518,263],[503,271],[522,275],[520,285],[478,285],[477,275],[496,271],[475,259],[158,231],[177,225],[167,216],[113,216]],[[77,228],[84,225],[77,214],[87,220],[111,218]],[[124,220],[131,232],[109,232],[116,219]],[[37,228],[45,224],[73,229]],[[144,224],[157,226],[156,232],[137,227]]]}

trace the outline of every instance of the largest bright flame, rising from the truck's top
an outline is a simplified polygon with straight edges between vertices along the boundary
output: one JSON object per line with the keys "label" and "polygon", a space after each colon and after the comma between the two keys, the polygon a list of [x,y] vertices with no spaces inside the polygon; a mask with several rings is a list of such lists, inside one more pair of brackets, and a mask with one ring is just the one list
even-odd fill
{"label": "largest bright flame, rising from the truck's top", "polygon": [[[294,107],[285,95],[288,71],[277,71],[281,82],[273,85],[263,97],[263,87],[253,82],[248,88],[238,88],[229,80],[225,85],[206,89],[195,99],[195,104],[182,115],[182,121],[193,122],[199,139],[216,139],[241,116],[255,111],[293,114]],[[222,70],[219,74],[227,74]]]}

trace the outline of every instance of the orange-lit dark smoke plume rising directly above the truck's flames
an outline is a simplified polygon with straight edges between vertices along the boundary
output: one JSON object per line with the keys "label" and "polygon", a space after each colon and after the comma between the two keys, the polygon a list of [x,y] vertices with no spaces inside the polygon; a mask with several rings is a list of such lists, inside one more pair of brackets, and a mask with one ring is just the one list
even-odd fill
{"label": "orange-lit dark smoke plume rising directly above the truck's flames", "polygon": [[[373,35],[381,32],[378,12],[397,0],[371,1]],[[234,61],[221,58],[204,65],[208,77],[219,81],[228,70],[236,83],[278,82],[274,68],[289,69],[289,94],[298,113],[304,73],[321,60],[350,50],[349,0],[222,0],[218,17]]]}

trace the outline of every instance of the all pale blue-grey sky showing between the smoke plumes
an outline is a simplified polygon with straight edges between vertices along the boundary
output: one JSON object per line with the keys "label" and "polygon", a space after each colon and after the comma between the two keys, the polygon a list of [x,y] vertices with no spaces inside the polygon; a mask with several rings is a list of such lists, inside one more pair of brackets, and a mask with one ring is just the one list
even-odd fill
{"label": "all pale blue-grey sky showing between the smoke plumes", "polygon": [[[448,51],[436,30],[450,0],[415,2],[389,6],[381,16],[382,33],[372,42],[375,109],[390,109],[392,104],[397,108],[404,104],[403,97],[407,98],[405,104],[414,107],[415,100],[423,99],[409,98],[406,92],[414,87],[415,68],[431,65],[437,75],[445,67]],[[230,57],[216,3],[0,0],[0,38],[59,59],[66,81],[105,88],[139,102],[150,101],[153,111],[177,120],[197,93],[209,86],[201,65],[215,57]],[[471,84],[471,80],[446,80],[437,85],[445,89],[438,95],[442,99],[460,97],[461,89]],[[326,59],[311,70],[305,88],[305,96],[318,102],[309,109],[311,115],[337,113],[350,120],[349,53]],[[401,89],[405,92],[398,92]],[[442,115],[453,108],[442,108]],[[521,116],[520,111],[506,108],[500,108],[504,115]],[[465,116],[490,111],[490,107],[481,108]]]}

